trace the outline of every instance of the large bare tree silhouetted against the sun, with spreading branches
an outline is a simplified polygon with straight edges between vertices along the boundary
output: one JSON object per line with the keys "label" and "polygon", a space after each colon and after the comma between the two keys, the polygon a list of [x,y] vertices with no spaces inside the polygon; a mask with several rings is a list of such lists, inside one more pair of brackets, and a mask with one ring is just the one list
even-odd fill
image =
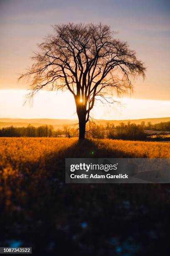
{"label": "large bare tree silhouetted against the sun, with spreading branches", "polygon": [[30,82],[28,98],[43,87],[69,90],[75,99],[79,139],[84,139],[95,100],[114,102],[108,93],[133,90],[132,79],[145,77],[145,67],[107,25],[68,23],[53,28],[54,35],[39,45],[32,58],[35,63],[19,79],[27,77]]}

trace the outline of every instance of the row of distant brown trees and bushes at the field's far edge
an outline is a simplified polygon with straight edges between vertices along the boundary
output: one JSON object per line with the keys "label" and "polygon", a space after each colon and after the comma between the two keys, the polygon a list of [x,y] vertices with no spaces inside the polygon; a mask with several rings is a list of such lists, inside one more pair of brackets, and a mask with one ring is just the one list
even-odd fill
{"label": "row of distant brown trees and bushes at the field's far edge", "polygon": [[[154,131],[170,131],[170,122],[158,123],[152,125],[150,122],[140,125],[128,122],[120,123],[115,126],[113,123],[106,125],[97,125],[89,122],[86,126],[86,138],[111,138],[124,140],[145,140],[147,133],[144,130]],[[6,127],[0,129],[0,137],[78,137],[78,128],[64,125],[62,128],[55,130],[52,125],[41,125],[35,127],[28,125],[27,127]]]}

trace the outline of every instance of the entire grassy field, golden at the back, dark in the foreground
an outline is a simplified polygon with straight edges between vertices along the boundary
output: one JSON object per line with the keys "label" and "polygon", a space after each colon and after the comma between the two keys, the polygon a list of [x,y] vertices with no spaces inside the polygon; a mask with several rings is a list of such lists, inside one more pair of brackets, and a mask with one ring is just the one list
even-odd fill
{"label": "entire grassy field, golden at the back, dark in the foreground", "polygon": [[65,184],[65,157],[169,154],[169,143],[1,138],[0,246],[32,246],[33,255],[169,255],[169,184]]}

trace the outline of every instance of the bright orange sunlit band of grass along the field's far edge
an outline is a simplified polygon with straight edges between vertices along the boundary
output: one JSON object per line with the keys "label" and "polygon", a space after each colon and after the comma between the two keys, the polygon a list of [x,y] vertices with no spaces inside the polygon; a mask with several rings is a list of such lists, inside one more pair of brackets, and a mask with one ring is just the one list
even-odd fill
{"label": "bright orange sunlit band of grass along the field's far edge", "polygon": [[[94,151],[94,154],[91,152]],[[170,143],[121,140],[91,140],[77,138],[0,138],[0,166],[28,168],[53,157],[136,157],[170,158]]]}

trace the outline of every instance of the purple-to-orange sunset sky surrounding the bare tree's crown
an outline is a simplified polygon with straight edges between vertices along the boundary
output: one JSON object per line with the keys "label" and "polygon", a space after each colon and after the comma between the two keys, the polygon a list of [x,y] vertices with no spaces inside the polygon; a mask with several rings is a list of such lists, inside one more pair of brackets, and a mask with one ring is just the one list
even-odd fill
{"label": "purple-to-orange sunset sky surrounding the bare tree's crown", "polygon": [[[94,118],[170,116],[169,0],[0,0],[0,117],[23,118],[24,114],[25,118],[62,118],[63,106],[63,118],[72,118],[75,107],[71,95],[48,93],[50,103],[45,105],[42,92],[33,108],[23,107],[28,84],[17,82],[19,74],[32,64],[30,56],[37,50],[37,44],[52,33],[51,25],[67,22],[110,25],[117,31],[116,37],[128,41],[147,67],[145,81],[137,79],[131,98],[121,99],[123,108],[96,105]],[[68,99],[72,107],[68,106]]]}

